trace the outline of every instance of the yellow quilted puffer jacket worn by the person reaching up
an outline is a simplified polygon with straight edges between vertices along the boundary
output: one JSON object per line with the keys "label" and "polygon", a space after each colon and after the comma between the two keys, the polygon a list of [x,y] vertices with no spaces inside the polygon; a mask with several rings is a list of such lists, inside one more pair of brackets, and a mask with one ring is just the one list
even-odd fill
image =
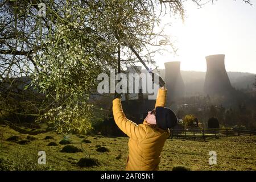
{"label": "yellow quilted puffer jacket worn by the person reaching up", "polygon": [[[158,90],[156,97],[156,106],[164,106],[166,103],[167,89]],[[152,108],[153,109],[153,108]],[[137,125],[125,117],[123,113],[121,100],[113,100],[114,120],[119,129],[130,137],[129,155],[126,162],[128,171],[150,171],[158,170],[160,163],[160,154],[166,139],[170,137],[170,130],[162,130],[155,125],[150,125],[144,119],[143,124]]]}

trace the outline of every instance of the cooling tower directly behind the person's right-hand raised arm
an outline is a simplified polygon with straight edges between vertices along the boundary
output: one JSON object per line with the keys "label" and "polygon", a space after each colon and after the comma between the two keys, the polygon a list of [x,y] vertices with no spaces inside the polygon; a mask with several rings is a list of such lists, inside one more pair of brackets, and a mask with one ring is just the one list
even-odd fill
{"label": "cooling tower directly behind the person's right-hand raised arm", "polygon": [[164,63],[166,74],[164,81],[166,81],[167,107],[180,97],[185,96],[185,85],[180,74],[180,61]]}

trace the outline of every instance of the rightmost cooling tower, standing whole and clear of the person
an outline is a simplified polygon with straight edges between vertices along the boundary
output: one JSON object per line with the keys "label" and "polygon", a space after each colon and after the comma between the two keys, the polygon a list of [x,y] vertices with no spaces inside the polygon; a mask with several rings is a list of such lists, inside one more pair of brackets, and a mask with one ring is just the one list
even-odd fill
{"label": "rightmost cooling tower, standing whole and clear of the person", "polygon": [[210,55],[205,59],[207,61],[207,73],[204,81],[204,92],[209,95],[230,94],[233,88],[225,69],[225,55]]}

